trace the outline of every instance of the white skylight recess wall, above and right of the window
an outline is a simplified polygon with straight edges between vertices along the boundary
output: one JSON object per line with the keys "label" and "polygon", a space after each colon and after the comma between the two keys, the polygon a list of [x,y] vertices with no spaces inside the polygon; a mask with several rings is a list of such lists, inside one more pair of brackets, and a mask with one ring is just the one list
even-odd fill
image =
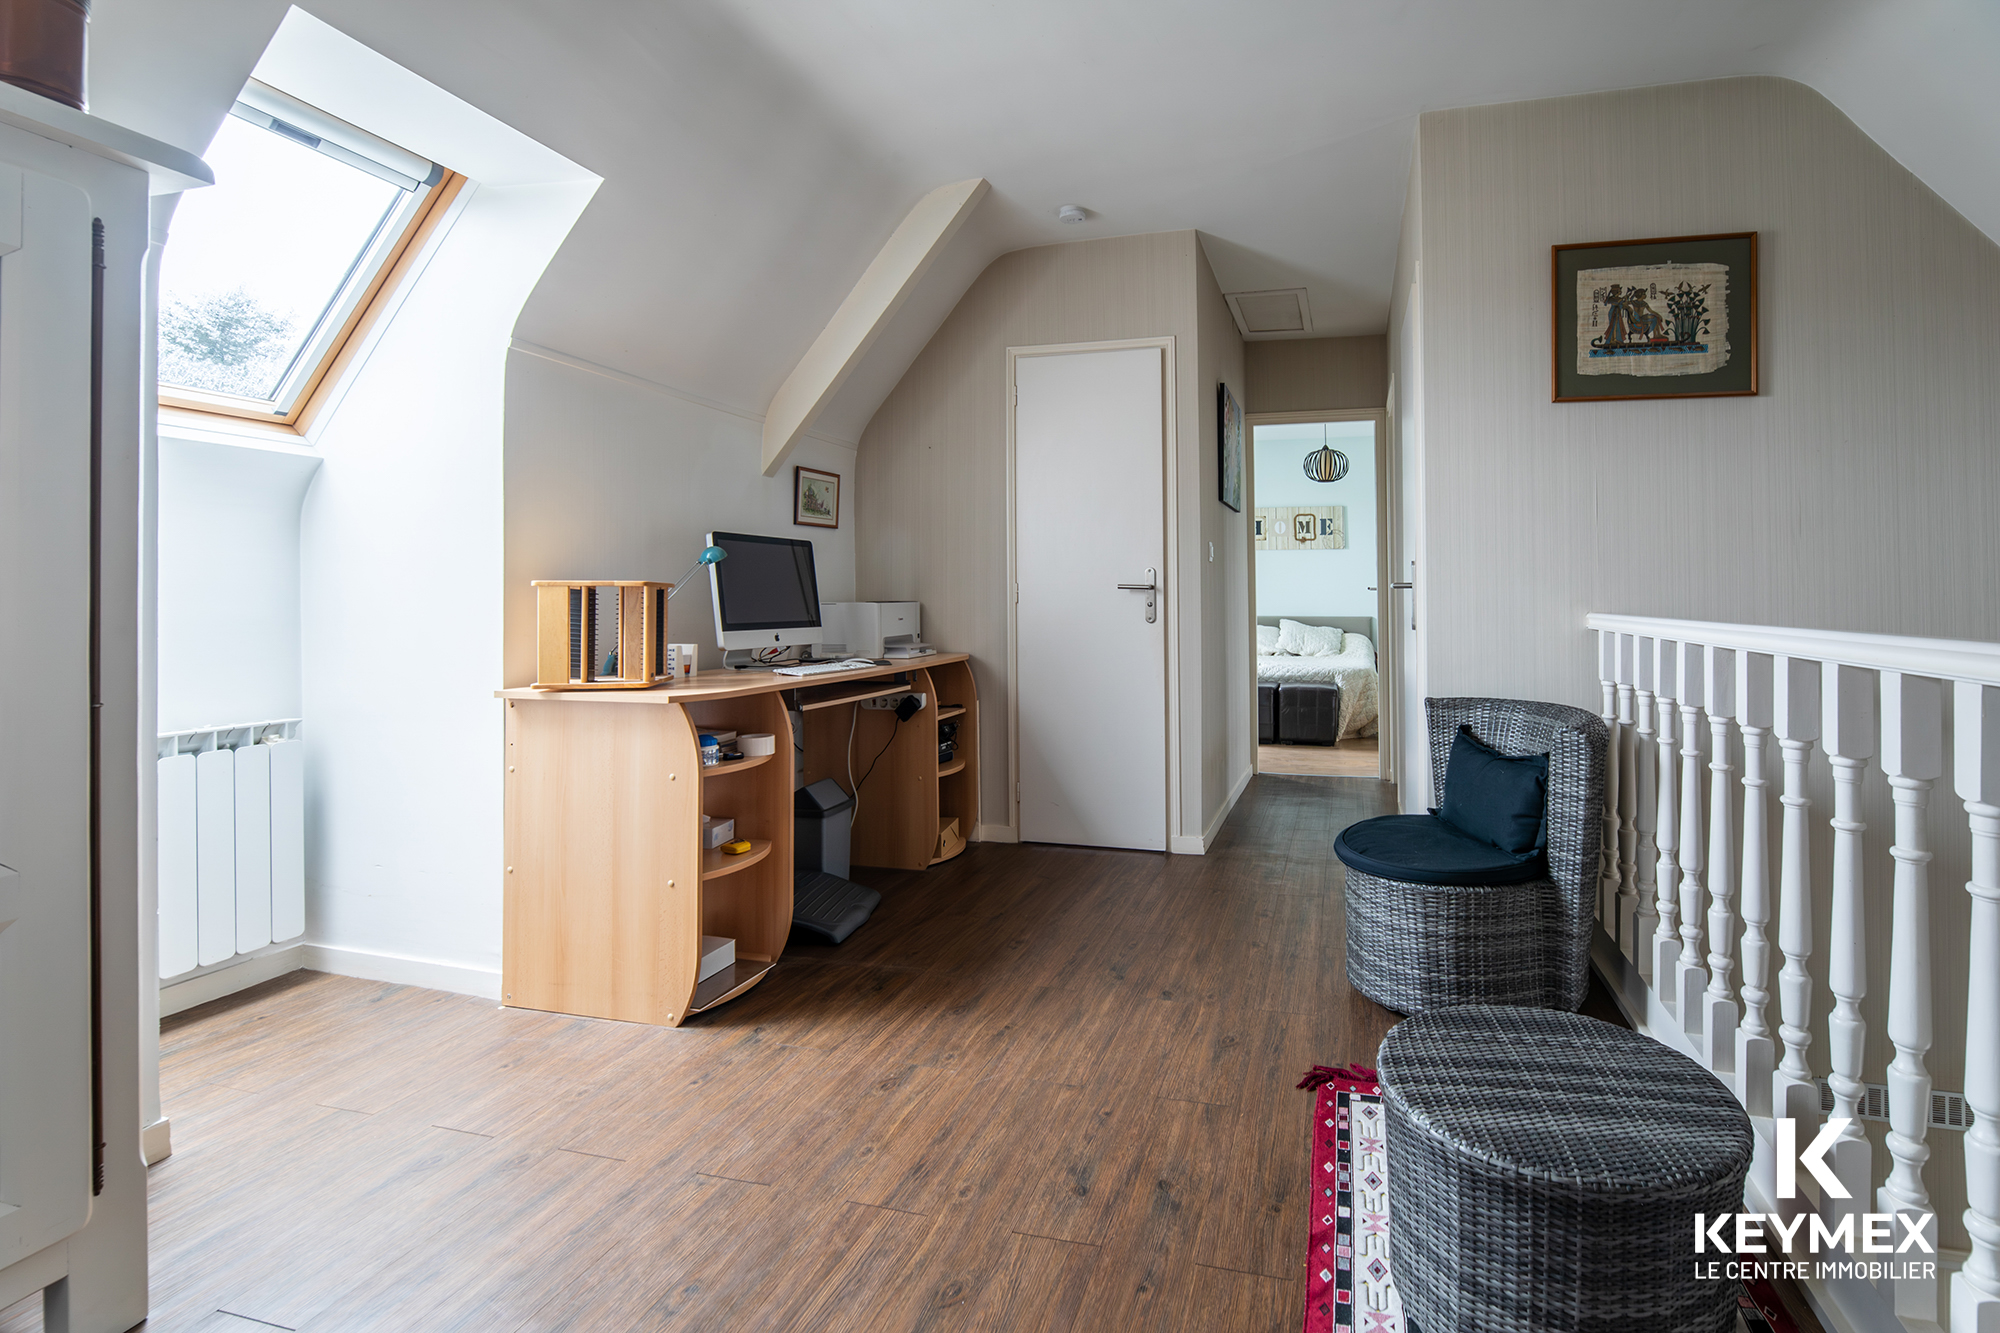
{"label": "white skylight recess wall, above and right of the window", "polygon": [[470,178],[310,438],[306,937],[498,997],[506,348],[598,180],[300,10],[256,72]]}

